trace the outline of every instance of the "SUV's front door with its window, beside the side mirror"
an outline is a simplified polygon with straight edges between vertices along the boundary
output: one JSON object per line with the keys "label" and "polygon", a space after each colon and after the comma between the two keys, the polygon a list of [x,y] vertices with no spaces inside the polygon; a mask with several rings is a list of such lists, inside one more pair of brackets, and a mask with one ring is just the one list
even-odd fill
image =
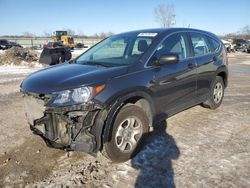
{"label": "SUV's front door with its window, beside the side mirror", "polygon": [[196,97],[196,64],[190,55],[186,33],[176,33],[160,44],[153,58],[177,54],[178,63],[168,63],[155,69],[154,93],[159,111],[178,111]]}

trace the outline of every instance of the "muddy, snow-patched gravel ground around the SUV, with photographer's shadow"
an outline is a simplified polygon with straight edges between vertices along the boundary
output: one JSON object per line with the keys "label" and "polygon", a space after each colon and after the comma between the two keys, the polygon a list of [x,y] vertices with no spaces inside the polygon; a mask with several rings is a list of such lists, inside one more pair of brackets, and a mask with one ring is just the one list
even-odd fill
{"label": "muddy, snow-patched gravel ground around the SUV, with photographer's shadow", "polygon": [[35,69],[6,74],[0,66],[0,187],[250,187],[250,54],[229,54],[229,64],[219,109],[167,119],[121,164],[48,148],[29,130],[19,93]]}

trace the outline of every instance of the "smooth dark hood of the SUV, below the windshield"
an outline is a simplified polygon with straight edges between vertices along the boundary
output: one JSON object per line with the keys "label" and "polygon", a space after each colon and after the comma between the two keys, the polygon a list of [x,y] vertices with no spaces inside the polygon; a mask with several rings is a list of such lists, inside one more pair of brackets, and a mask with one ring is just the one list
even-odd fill
{"label": "smooth dark hood of the SUV, below the windshield", "polygon": [[49,94],[55,91],[77,88],[105,82],[127,73],[127,66],[102,67],[81,64],[60,64],[37,71],[21,84],[24,92]]}

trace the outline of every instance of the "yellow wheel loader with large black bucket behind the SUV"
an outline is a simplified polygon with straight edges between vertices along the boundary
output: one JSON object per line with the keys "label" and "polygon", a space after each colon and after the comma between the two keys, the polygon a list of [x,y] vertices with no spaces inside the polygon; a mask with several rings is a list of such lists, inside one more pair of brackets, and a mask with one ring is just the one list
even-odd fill
{"label": "yellow wheel loader with large black bucket behind the SUV", "polygon": [[55,65],[71,59],[71,49],[82,48],[84,44],[75,43],[74,38],[67,31],[55,31],[52,41],[45,45],[40,55],[39,63]]}

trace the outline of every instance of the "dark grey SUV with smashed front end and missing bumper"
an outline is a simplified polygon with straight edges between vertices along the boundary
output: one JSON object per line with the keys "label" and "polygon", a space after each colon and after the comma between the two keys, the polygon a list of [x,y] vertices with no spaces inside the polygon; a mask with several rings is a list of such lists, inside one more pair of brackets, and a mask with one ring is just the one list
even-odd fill
{"label": "dark grey SUV with smashed front end and missing bumper", "polygon": [[186,28],[122,33],[21,84],[31,130],[54,148],[98,151],[115,162],[139,151],[166,118],[220,106],[227,56],[212,33]]}

